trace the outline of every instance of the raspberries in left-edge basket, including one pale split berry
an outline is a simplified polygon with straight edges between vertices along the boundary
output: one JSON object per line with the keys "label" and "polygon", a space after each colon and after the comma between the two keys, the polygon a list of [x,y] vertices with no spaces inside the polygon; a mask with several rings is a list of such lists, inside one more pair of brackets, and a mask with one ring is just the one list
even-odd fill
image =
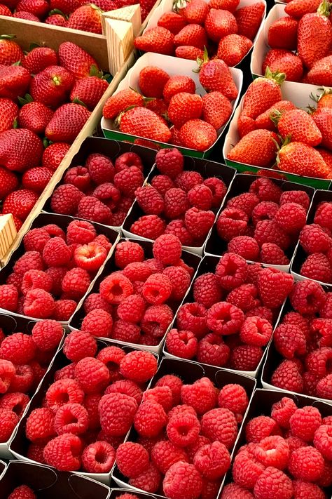
{"label": "raspberries in left-edge basket, including one pale split berry", "polygon": [[112,245],[90,222],[73,220],[66,232],[55,224],[29,230],[23,246],[25,253],[0,286],[0,308],[68,321]]}

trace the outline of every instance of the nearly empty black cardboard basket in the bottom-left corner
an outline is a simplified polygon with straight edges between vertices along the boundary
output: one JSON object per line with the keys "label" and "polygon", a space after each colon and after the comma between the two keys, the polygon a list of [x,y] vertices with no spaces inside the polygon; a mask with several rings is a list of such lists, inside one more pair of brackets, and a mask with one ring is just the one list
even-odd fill
{"label": "nearly empty black cardboard basket in the bottom-left corner", "polygon": [[22,461],[9,461],[0,478],[0,499],[14,488],[27,485],[39,499],[108,499],[109,487],[88,477],[57,472],[51,467]]}

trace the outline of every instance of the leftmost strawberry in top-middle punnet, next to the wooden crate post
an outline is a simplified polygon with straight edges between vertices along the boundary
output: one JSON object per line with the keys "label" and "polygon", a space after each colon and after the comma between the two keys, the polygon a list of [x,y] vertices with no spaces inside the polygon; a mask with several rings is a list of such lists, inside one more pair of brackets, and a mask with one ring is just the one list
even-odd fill
{"label": "leftmost strawberry in top-middle punnet, next to the wooden crate post", "polygon": [[174,34],[168,29],[156,26],[147,29],[141,36],[137,36],[134,39],[134,46],[139,51],[172,55],[174,52]]}

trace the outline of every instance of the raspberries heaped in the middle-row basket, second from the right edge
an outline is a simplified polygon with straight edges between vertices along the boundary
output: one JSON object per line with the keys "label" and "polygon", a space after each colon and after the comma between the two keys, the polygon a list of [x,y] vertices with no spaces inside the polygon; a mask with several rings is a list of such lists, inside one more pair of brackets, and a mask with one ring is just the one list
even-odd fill
{"label": "raspberries heaped in the middle-row basket, second from the right edge", "polygon": [[225,253],[215,272],[201,274],[193,282],[188,295],[193,302],[186,300],[177,312],[177,328],[167,334],[167,352],[213,366],[255,371],[279,308],[292,289],[291,274]]}

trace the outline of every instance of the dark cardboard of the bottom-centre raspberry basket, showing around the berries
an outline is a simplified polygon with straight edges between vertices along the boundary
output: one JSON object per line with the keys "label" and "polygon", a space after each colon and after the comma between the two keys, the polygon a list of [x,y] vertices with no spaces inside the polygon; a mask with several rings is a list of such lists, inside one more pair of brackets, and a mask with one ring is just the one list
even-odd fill
{"label": "dark cardboard of the bottom-centre raspberry basket, showing around the berries", "polygon": [[[196,380],[199,380],[202,377],[206,377],[214,382],[216,387],[219,389],[221,389],[225,385],[228,385],[229,383],[236,383],[244,387],[244,390],[246,390],[249,399],[249,406],[251,397],[253,396],[254,390],[256,388],[256,380],[250,378],[247,375],[234,373],[233,371],[229,371],[228,369],[198,364],[198,362],[188,361],[184,359],[170,359],[165,357],[161,359],[158,371],[153,376],[150,385],[148,385],[148,388],[153,388],[156,382],[166,374],[178,375],[186,384],[192,384]],[[244,418],[246,413],[244,413]],[[241,428],[242,424],[239,427],[238,436],[240,435]],[[138,434],[132,427],[132,430],[130,430],[129,434],[127,434],[127,438],[125,441],[137,441],[137,437]],[[136,491],[139,491],[138,488],[131,486],[128,483],[127,478],[124,477],[123,474],[121,474],[117,466],[113,468],[112,478],[120,487],[130,488],[130,490],[134,493],[136,493]]]}

